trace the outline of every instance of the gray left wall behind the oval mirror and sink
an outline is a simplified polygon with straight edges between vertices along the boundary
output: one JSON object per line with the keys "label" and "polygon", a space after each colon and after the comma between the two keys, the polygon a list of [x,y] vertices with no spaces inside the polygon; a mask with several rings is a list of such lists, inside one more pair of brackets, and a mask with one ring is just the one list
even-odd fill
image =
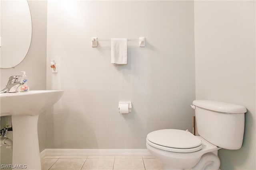
{"label": "gray left wall behind the oval mirror and sink", "polygon": [[[28,1],[32,18],[32,41],[25,59],[15,68],[0,70],[1,85],[4,88],[9,76],[26,71],[30,90],[46,90],[46,28],[47,1]],[[46,113],[39,115],[38,138],[40,151],[46,148]]]}

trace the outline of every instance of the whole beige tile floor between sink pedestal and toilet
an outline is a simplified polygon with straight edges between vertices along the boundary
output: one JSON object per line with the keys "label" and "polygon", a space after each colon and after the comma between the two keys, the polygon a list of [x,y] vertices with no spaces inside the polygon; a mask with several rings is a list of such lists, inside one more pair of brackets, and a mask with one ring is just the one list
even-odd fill
{"label": "whole beige tile floor between sink pedestal and toilet", "polygon": [[42,170],[162,170],[152,156],[45,156]]}

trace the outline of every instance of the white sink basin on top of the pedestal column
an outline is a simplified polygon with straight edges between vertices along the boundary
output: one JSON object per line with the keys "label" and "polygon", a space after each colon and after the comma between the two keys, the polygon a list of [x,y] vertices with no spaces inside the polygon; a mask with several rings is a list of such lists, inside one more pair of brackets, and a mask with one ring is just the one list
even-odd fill
{"label": "white sink basin on top of the pedestal column", "polygon": [[62,90],[1,93],[0,115],[38,115],[55,104],[62,94]]}

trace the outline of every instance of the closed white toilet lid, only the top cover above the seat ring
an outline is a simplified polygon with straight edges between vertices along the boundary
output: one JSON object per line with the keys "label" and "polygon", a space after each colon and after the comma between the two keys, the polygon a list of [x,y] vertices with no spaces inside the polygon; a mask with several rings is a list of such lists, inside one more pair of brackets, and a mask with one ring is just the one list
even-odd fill
{"label": "closed white toilet lid, only the top cover above the seat ring", "polygon": [[190,149],[202,145],[197,137],[189,131],[179,129],[162,129],[147,135],[148,141],[164,147]]}

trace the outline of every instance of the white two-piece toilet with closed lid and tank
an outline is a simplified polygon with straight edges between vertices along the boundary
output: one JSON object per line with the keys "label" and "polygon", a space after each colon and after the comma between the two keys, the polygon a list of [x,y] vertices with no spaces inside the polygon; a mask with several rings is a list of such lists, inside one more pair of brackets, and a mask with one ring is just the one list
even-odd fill
{"label": "white two-piece toilet with closed lid and tank", "polygon": [[219,149],[236,150],[244,137],[244,106],[194,100],[197,131],[161,129],[147,135],[146,147],[166,170],[219,170]]}

